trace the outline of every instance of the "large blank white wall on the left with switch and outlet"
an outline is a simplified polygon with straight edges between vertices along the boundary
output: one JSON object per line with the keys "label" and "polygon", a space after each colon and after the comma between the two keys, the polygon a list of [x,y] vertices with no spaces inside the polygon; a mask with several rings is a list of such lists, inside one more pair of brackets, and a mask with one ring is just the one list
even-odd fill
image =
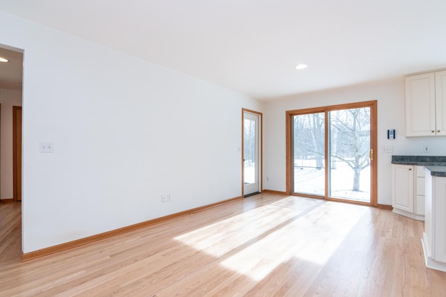
{"label": "large blank white wall on the left with switch and outlet", "polygon": [[5,13],[0,27],[24,49],[24,252],[241,195],[241,109],[259,102]]}

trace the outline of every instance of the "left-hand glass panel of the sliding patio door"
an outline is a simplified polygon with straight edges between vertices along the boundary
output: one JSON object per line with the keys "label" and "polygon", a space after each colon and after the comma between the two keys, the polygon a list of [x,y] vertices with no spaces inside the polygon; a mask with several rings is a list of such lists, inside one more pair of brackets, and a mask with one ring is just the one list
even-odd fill
{"label": "left-hand glass panel of the sliding patio door", "polygon": [[325,196],[325,113],[293,115],[293,193]]}

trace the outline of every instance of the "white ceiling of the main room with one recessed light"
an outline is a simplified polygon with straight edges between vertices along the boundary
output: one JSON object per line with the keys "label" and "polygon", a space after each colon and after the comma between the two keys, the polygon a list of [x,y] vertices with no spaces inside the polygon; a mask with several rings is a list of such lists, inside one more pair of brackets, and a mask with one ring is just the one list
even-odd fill
{"label": "white ceiling of the main room with one recessed light", "polygon": [[446,67],[445,0],[0,0],[0,10],[257,99]]}

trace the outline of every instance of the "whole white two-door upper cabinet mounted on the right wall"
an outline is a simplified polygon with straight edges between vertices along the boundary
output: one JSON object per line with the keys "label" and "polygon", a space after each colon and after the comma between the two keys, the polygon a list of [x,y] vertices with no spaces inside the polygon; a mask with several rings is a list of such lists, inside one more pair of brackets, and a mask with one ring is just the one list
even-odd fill
{"label": "whole white two-door upper cabinet mounted on the right wall", "polygon": [[406,77],[406,136],[446,135],[446,70]]}

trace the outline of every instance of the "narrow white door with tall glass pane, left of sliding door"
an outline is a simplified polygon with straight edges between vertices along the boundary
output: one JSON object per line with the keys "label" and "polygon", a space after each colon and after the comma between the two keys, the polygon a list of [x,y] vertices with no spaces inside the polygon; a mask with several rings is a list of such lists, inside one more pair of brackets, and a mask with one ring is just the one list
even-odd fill
{"label": "narrow white door with tall glass pane, left of sliding door", "polygon": [[261,189],[260,115],[243,112],[243,184],[245,197]]}

